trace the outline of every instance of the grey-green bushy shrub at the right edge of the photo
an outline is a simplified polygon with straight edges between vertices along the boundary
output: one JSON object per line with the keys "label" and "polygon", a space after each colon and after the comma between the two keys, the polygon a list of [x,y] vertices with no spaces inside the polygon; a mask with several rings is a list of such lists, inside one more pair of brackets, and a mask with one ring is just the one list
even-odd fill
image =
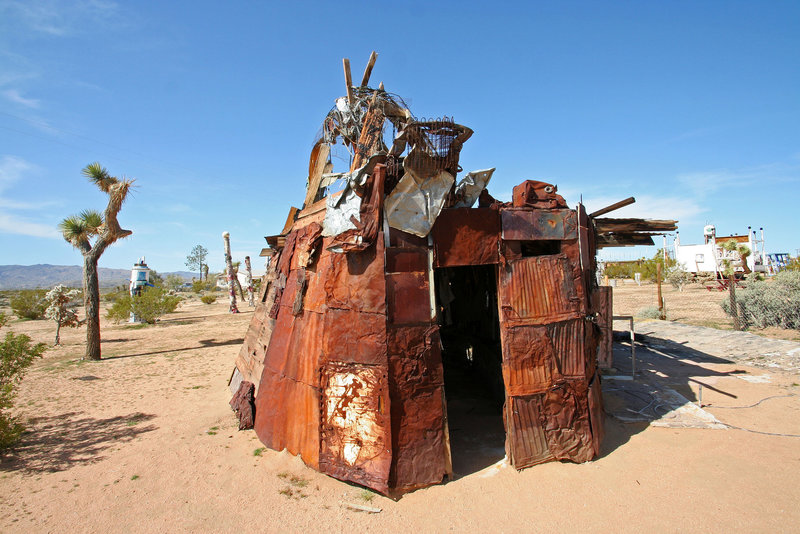
{"label": "grey-green bushy shrub at the right edge of the photo", "polygon": [[[725,313],[732,315],[730,299],[721,304]],[[756,281],[737,290],[736,307],[745,328],[800,330],[800,272],[783,271],[771,281]]]}

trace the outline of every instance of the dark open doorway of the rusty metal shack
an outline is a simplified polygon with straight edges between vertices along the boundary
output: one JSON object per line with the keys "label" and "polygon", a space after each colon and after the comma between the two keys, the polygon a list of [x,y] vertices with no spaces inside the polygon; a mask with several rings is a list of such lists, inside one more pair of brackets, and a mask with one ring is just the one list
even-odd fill
{"label": "dark open doorway of the rusty metal shack", "polygon": [[453,471],[464,476],[505,456],[502,352],[494,265],[435,271]]}

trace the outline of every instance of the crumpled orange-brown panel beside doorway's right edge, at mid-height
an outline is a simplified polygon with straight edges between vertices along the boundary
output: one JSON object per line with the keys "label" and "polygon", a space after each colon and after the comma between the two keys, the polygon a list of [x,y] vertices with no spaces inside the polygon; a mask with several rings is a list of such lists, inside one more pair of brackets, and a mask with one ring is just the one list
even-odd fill
{"label": "crumpled orange-brown panel beside doorway's right edge, at mid-height", "polygon": [[558,373],[553,347],[544,326],[517,326],[500,330],[503,381],[508,395],[545,391]]}

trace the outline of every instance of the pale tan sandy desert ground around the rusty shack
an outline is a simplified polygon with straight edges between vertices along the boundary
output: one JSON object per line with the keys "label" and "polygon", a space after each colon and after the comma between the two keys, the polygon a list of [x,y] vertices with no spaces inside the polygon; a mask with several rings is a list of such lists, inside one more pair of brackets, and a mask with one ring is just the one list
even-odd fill
{"label": "pale tan sandy desert ground around the rusty shack", "polygon": [[[252,430],[237,430],[226,383],[252,317],[244,310],[230,315],[223,302],[191,301],[155,326],[103,321],[101,362],[79,360],[82,329],[62,331],[64,345],[49,350],[20,389],[18,411],[29,433],[0,463],[0,531],[800,528],[800,438],[769,434],[800,435],[800,377],[714,354],[717,331],[709,330],[706,345],[695,348],[693,339],[665,339],[652,326],[658,322],[639,323],[647,335],[637,347],[637,382],[669,386],[690,401],[702,383],[706,412],[763,433],[623,423],[609,416],[594,461],[521,472],[500,463],[392,500],[308,469],[286,452],[263,450]],[[52,343],[50,322],[11,328]],[[625,374],[629,350],[616,344],[619,369],[612,374]],[[800,350],[792,355],[800,358]],[[626,404],[636,395],[621,393],[630,383],[604,380],[609,412],[645,412]],[[750,408],[727,408],[762,399]],[[657,408],[650,403],[658,416]],[[354,511],[345,503],[381,511]]]}

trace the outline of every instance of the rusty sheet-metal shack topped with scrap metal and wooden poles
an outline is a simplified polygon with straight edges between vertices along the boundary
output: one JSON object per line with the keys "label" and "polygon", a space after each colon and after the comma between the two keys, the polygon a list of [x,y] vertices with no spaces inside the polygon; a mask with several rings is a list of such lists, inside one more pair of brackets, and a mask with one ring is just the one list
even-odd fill
{"label": "rusty sheet-metal shack topped with scrap metal and wooden poles", "polygon": [[[359,86],[345,60],[348,94],[325,118],[303,208],[267,238],[231,389],[255,385],[264,445],[381,493],[452,476],[448,403],[478,391],[513,467],[591,460],[611,346],[596,250],[652,243],[674,221],[598,219],[615,206],[589,215],[530,180],[495,200],[494,169],[457,179],[472,131],[369,88],[374,59]],[[331,172],[337,142],[349,172]]]}

